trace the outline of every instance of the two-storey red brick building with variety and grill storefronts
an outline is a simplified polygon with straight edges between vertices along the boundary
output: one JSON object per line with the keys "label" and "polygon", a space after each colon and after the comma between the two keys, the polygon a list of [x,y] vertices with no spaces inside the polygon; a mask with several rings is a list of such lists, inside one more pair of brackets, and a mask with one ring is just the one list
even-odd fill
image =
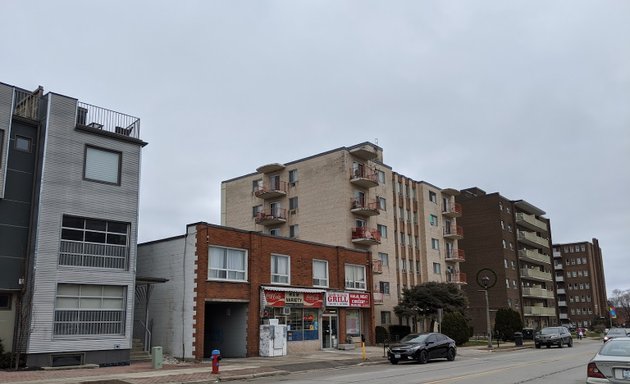
{"label": "two-storey red brick building with variety and grill storefronts", "polygon": [[[207,223],[138,246],[152,345],[182,358],[258,356],[260,325],[288,325],[288,353],[374,342],[370,253]],[[136,307],[142,318],[146,308]]]}

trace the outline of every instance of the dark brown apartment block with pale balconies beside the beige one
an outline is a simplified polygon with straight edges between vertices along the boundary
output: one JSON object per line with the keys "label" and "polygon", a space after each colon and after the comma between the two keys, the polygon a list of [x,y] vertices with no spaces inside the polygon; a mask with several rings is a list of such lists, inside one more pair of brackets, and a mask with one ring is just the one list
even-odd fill
{"label": "dark brown apartment block with pale balconies beside the beige one", "polygon": [[[558,323],[551,254],[551,231],[545,212],[525,200],[510,200],[479,188],[461,191],[456,200],[464,215],[460,225],[466,237],[462,270],[476,334],[486,331],[486,305],[481,280],[487,285],[492,310],[511,308],[523,317],[525,327]],[[492,320],[491,320],[492,321]],[[493,321],[492,321],[493,322]]]}

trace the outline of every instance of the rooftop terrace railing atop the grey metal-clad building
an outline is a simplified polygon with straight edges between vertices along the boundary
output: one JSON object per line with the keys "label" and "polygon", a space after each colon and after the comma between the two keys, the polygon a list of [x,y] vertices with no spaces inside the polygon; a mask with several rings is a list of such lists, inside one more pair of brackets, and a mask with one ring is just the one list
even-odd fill
{"label": "rooftop terrace railing atop the grey metal-clad building", "polygon": [[77,106],[77,126],[140,138],[139,118],[81,102]]}

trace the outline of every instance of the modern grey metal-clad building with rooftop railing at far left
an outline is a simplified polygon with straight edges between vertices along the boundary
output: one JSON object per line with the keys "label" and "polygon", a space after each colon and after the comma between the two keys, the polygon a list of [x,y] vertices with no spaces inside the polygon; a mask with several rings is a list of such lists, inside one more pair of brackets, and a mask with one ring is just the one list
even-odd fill
{"label": "modern grey metal-clad building with rooftop railing at far left", "polygon": [[28,366],[129,362],[139,130],[0,83],[0,338]]}

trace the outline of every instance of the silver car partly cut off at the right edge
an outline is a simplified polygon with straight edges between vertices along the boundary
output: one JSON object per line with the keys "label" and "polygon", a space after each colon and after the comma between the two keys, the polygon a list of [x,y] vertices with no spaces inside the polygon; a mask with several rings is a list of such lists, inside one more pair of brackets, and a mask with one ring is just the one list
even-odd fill
{"label": "silver car partly cut off at the right edge", "polygon": [[615,337],[602,345],[586,366],[586,382],[630,382],[630,337]]}

